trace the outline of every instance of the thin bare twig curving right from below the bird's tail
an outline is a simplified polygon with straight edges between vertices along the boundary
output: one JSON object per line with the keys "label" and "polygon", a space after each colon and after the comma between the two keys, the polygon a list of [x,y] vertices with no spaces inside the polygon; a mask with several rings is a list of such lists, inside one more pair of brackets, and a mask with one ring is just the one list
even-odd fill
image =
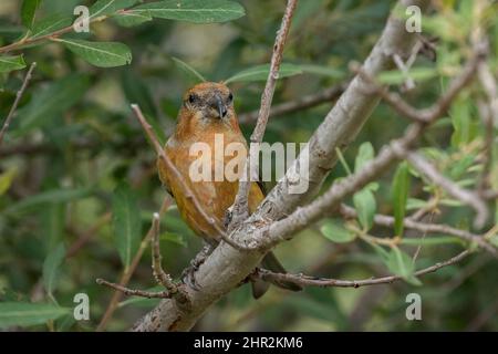
{"label": "thin bare twig curving right from below the bird's tail", "polygon": [[[444,267],[448,267],[461,261],[470,254],[469,250],[465,250],[457,256],[444,261],[438,262],[434,266],[421,269],[414,272],[415,277],[425,275],[427,273],[435,272]],[[360,288],[365,285],[378,285],[387,284],[397,280],[402,280],[401,275],[388,275],[382,278],[371,278],[364,280],[339,280],[339,279],[328,279],[328,278],[315,278],[304,274],[290,274],[290,273],[273,273],[267,269],[259,269],[258,275],[264,281],[286,281],[293,282],[294,284],[301,287],[338,287],[338,288]]]}

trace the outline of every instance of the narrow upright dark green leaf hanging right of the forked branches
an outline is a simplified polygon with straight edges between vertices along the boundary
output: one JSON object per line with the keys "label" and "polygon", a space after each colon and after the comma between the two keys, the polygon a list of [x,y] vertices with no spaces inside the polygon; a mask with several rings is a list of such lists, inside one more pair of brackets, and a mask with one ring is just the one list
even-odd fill
{"label": "narrow upright dark green leaf hanging right of the forked branches", "polygon": [[394,180],[391,189],[391,198],[394,209],[394,232],[403,236],[403,226],[406,214],[406,201],[409,191],[409,173],[406,163],[400,164],[394,174]]}

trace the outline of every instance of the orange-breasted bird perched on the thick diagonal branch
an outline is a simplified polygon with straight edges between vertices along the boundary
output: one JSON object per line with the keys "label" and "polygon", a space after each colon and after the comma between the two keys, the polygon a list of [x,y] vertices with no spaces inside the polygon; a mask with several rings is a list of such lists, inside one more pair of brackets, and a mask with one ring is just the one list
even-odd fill
{"label": "orange-breasted bird perched on the thick diagonal branch", "polygon": [[[209,170],[207,173],[215,177],[217,174],[216,168],[224,166],[228,163],[228,159],[234,158],[225,156],[225,154],[221,154],[220,157],[216,152],[212,153],[217,148],[216,140],[219,140],[220,137],[224,146],[235,144],[241,147],[243,154],[239,154],[237,158],[243,158],[245,160],[247,156],[247,140],[237,121],[234,108],[234,94],[222,82],[198,83],[187,90],[183,96],[176,127],[164,145],[164,153],[214,223],[203,217],[191,197],[186,195],[180,181],[166,167],[165,162],[162,158],[157,159],[159,179],[175,199],[181,218],[197,236],[201,237],[211,247],[216,247],[220,240],[217,228],[221,230],[227,228],[226,214],[235,201],[239,180],[238,178],[235,180],[234,178],[226,178],[225,174],[222,174],[222,178],[204,178],[200,180],[197,177],[191,178],[193,164],[196,160],[198,162],[199,158],[198,155],[191,153],[191,149],[195,146],[210,149],[211,154],[207,160],[207,169]],[[239,178],[240,173],[238,175]],[[255,212],[263,199],[264,190],[262,185],[251,181],[248,196],[249,212]],[[264,256],[261,267],[278,273],[286,272],[286,269],[272,252]],[[291,291],[302,290],[300,285],[292,282],[278,281],[272,283]],[[251,279],[251,284],[255,299],[262,296],[269,288],[269,284],[262,280]]]}

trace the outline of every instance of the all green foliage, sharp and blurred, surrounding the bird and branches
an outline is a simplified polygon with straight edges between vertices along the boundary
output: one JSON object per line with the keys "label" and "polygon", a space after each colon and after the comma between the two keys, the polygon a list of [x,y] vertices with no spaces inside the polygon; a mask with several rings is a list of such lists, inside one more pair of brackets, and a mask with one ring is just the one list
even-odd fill
{"label": "all green foliage, sharp and blurred, surrounding the bird and branches", "polygon": [[[90,7],[90,33],[71,30],[73,9],[81,3]],[[438,2],[438,11],[424,18],[424,35],[438,38],[435,61],[419,55],[407,73],[390,70],[376,79],[402,90],[408,76],[416,83],[409,101],[417,107],[429,106],[448,77],[461,70],[469,51],[476,21],[471,3]],[[199,81],[229,83],[239,114],[258,110],[281,12],[281,1],[1,1],[2,122],[27,66],[37,62],[38,67],[0,146],[0,329],[96,327],[111,290],[97,285],[95,279],[117,280],[129,267],[165,196],[156,176],[155,154],[131,118],[129,104],[141,105],[162,140],[174,127],[183,92]],[[351,77],[349,63],[366,58],[388,13],[388,1],[300,2],[274,104]],[[489,33],[488,62],[496,76],[496,6],[479,21]],[[17,43],[15,50],[4,51],[11,43]],[[463,187],[477,186],[484,168],[487,129],[479,112],[484,97],[473,86],[464,90],[447,116],[424,136],[424,156]],[[328,103],[272,117],[264,139],[307,142],[330,107]],[[323,188],[359,171],[406,124],[381,103],[355,143],[342,152],[341,164]],[[246,136],[251,128],[242,126]],[[491,162],[495,184],[497,146],[492,146]],[[401,275],[403,282],[382,285],[381,292],[339,288],[290,294],[272,289],[258,304],[250,299],[248,287],[241,287],[220,301],[198,329],[498,330],[496,315],[478,323],[483,313],[497,309],[494,280],[498,267],[486,253],[425,278],[414,275],[416,269],[473,244],[447,235],[421,238],[419,232],[405,228],[404,217],[432,206],[432,217],[438,222],[470,230],[474,214],[468,207],[406,162],[346,202],[354,207],[356,218],[334,217],[321,221],[318,229],[310,227],[302,237],[279,247],[279,258],[293,272],[313,270],[338,279],[388,273]],[[393,216],[394,228],[375,225],[375,214]],[[487,229],[497,222],[498,212]],[[201,242],[174,207],[162,218],[162,230],[164,267],[179,277]],[[398,241],[377,244],[373,236]],[[489,239],[498,243],[497,232]],[[154,287],[149,264],[147,248],[132,285]],[[91,320],[64,321],[80,292],[91,299]],[[405,296],[411,292],[423,298],[423,321],[404,317]],[[373,303],[365,301],[370,296]],[[156,303],[124,299],[108,329],[128,329],[142,311]]]}

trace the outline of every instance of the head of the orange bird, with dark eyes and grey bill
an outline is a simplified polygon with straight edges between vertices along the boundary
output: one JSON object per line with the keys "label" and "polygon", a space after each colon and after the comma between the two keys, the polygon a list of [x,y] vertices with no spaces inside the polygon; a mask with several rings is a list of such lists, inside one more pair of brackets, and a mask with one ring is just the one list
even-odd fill
{"label": "head of the orange bird, with dark eyes and grey bill", "polygon": [[234,118],[234,95],[224,83],[203,82],[187,90],[183,111],[198,123],[228,123]]}

